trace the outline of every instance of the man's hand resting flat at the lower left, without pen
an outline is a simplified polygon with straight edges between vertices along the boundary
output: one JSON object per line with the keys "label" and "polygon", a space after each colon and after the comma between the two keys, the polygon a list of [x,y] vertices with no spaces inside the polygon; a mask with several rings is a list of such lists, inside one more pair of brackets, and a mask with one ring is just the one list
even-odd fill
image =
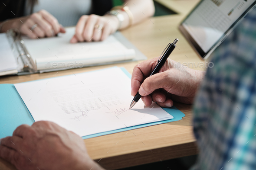
{"label": "man's hand resting flat at the lower left, without pen", "polygon": [[103,170],[78,135],[53,122],[21,125],[0,141],[0,158],[18,170]]}

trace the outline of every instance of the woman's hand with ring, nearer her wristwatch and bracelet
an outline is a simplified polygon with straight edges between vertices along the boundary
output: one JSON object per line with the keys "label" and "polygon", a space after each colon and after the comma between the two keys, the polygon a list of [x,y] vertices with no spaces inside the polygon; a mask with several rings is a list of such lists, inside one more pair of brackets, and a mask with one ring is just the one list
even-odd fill
{"label": "woman's hand with ring, nearer her wristwatch and bracelet", "polygon": [[119,21],[116,16],[83,15],[75,28],[71,43],[84,41],[102,41],[117,31]]}

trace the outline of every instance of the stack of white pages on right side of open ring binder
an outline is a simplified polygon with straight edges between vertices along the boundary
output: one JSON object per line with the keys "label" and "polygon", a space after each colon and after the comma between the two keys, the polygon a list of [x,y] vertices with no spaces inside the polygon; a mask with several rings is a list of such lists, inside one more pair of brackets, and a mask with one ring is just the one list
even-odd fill
{"label": "stack of white pages on right side of open ring binder", "polygon": [[75,27],[70,27],[66,28],[65,34],[59,33],[57,37],[40,39],[23,37],[37,69],[69,69],[135,58],[135,50],[126,48],[113,35],[102,42],[71,44],[69,41],[74,33]]}

